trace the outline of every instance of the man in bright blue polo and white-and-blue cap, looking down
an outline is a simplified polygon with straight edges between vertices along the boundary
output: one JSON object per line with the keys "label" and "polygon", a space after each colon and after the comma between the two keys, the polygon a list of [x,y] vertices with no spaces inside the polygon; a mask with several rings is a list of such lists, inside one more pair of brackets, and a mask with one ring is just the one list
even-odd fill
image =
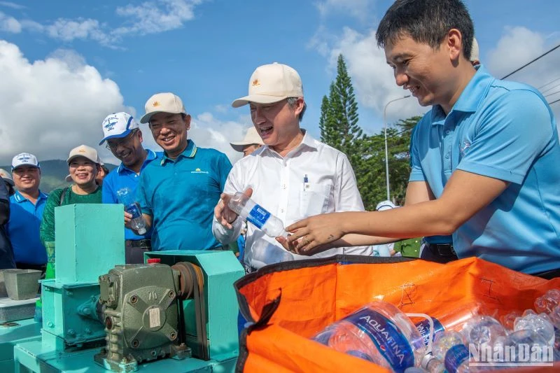
{"label": "man in bright blue polo and white-and-blue cap, looking down", "polygon": [[[104,204],[118,204],[117,192],[129,188],[136,192],[140,174],[158,154],[142,146],[142,132],[130,114],[113,113],[102,122],[106,148],[121,161],[103,180],[102,200]],[[160,156],[160,155],[159,155]],[[125,227],[125,261],[128,264],[144,263],[144,253],[151,248],[151,231],[136,234]]]}

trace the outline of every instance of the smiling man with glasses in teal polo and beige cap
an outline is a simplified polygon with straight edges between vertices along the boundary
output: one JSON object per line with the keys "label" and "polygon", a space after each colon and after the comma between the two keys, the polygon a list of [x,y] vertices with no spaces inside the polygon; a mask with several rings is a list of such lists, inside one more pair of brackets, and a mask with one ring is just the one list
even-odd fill
{"label": "smiling man with glasses in teal polo and beige cap", "polygon": [[[164,150],[140,176],[137,199],[146,223],[153,226],[153,250],[221,248],[212,234],[214,206],[232,164],[215,149],[198,148],[187,138],[190,115],[172,93],[154,94],[141,123],[149,123]],[[125,213],[125,221],[130,214]]]}

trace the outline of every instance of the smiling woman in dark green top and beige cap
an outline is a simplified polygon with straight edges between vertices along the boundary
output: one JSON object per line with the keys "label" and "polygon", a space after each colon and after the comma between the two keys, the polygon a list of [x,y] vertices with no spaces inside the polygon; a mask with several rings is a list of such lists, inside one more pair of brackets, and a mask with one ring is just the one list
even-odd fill
{"label": "smiling woman in dark green top and beige cap", "polygon": [[41,222],[41,241],[48,255],[47,279],[55,274],[55,207],[102,203],[102,187],[95,182],[100,167],[97,150],[80,145],[70,151],[66,161],[73,184],[50,192]]}

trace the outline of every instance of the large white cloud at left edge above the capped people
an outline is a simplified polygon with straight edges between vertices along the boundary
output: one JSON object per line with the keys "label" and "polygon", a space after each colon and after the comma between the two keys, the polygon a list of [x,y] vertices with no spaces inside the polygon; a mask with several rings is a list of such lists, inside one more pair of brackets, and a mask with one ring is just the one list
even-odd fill
{"label": "large white cloud at left edge above the capped people", "polygon": [[0,41],[0,160],[23,151],[41,160],[66,159],[71,148],[97,146],[108,113],[130,111],[113,80],[76,52],[59,50],[29,62],[17,45]]}

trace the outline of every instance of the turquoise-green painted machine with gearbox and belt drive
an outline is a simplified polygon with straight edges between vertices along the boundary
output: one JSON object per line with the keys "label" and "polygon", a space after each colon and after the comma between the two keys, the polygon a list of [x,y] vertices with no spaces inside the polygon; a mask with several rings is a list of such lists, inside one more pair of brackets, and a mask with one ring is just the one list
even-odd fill
{"label": "turquoise-green painted machine with gearbox and belt drive", "polygon": [[150,252],[160,263],[123,265],[122,205],[62,206],[55,219],[56,278],[42,283],[41,339],[16,344],[15,372],[235,370],[233,283],[244,269],[232,252]]}

